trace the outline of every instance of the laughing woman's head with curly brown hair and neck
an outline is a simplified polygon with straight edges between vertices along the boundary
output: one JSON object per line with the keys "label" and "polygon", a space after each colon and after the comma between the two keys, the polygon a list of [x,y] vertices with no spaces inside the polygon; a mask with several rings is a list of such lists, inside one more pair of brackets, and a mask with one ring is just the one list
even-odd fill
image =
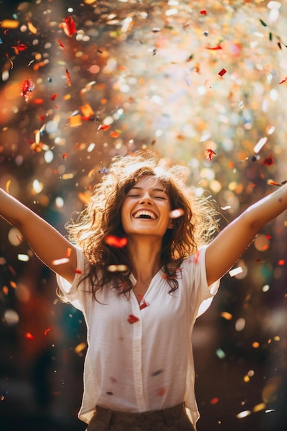
{"label": "laughing woman's head with curly brown hair and neck", "polygon": [[[120,294],[134,289],[129,277],[136,272],[131,251],[139,249],[145,268],[142,278],[147,279],[147,272],[151,278],[162,268],[171,290],[178,287],[175,275],[182,260],[207,244],[217,228],[214,208],[208,200],[195,197],[184,183],[183,171],[180,166],[159,166],[150,153],[116,158],[109,174],[94,188],[85,211],[67,224],[70,240],[85,250],[92,263],[85,276],[95,298],[109,283]],[[109,246],[107,235],[127,238],[128,245]],[[147,271],[151,262],[153,269]],[[108,267],[115,264],[124,264],[127,272],[111,274]]]}

